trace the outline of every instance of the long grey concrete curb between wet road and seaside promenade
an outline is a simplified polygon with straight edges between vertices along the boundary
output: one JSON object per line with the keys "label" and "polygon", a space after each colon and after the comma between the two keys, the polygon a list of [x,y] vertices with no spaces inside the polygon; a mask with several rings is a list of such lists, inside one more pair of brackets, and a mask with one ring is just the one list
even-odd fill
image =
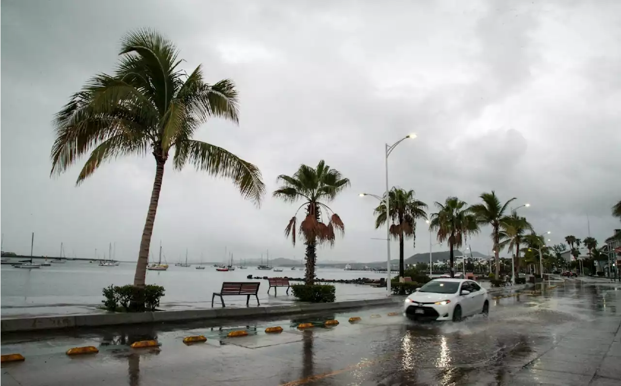
{"label": "long grey concrete curb between wet road and seaside promenade", "polygon": [[60,330],[76,327],[135,325],[204,319],[261,318],[320,311],[347,310],[348,308],[381,307],[402,303],[401,296],[367,300],[346,300],[334,303],[294,303],[272,307],[204,308],[200,310],[158,311],[143,313],[102,313],[72,316],[39,316],[0,320],[0,332]]}

